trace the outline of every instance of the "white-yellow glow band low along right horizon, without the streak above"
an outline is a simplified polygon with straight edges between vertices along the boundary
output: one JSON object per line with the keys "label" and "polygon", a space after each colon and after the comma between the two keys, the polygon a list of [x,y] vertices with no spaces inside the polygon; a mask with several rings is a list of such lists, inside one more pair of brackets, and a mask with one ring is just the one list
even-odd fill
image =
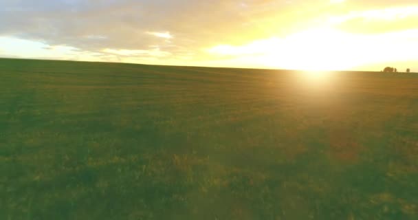
{"label": "white-yellow glow band low along right horizon, without the streak above", "polygon": [[412,61],[418,51],[418,29],[383,34],[350,34],[319,28],[265,39],[248,45],[217,45],[219,56],[251,56],[259,65],[284,69],[344,70],[374,63]]}

